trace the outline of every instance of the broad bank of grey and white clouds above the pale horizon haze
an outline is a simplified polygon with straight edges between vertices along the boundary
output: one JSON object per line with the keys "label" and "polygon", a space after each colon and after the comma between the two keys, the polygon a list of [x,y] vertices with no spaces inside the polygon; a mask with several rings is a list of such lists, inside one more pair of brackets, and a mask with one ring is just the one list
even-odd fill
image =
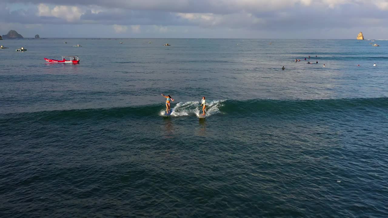
{"label": "broad bank of grey and white clouds above the pale horizon haze", "polygon": [[[388,21],[388,0],[3,0],[0,21],[23,25],[111,26],[114,33],[204,29],[281,33],[374,28]],[[21,6],[22,5],[22,6]],[[360,19],[359,17],[362,17]],[[44,29],[44,26],[42,27]],[[229,31],[230,30],[230,31]],[[86,31],[86,30],[85,30]],[[357,31],[357,32],[359,32]],[[171,35],[173,36],[173,35]]]}

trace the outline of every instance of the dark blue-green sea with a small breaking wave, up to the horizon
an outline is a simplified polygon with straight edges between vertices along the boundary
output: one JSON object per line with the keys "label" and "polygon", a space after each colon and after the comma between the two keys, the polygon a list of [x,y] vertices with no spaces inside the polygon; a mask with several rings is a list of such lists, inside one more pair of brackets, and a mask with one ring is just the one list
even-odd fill
{"label": "dark blue-green sea with a small breaking wave, up to the horizon", "polygon": [[2,40],[0,217],[387,217],[376,42]]}

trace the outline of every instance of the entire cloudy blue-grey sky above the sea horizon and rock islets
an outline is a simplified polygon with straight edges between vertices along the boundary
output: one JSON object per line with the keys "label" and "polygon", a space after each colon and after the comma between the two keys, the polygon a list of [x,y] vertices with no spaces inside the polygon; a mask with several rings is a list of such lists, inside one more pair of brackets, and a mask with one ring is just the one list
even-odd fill
{"label": "entire cloudy blue-grey sky above the sea horizon and rock islets", "polygon": [[0,35],[388,38],[388,0],[0,0]]}

